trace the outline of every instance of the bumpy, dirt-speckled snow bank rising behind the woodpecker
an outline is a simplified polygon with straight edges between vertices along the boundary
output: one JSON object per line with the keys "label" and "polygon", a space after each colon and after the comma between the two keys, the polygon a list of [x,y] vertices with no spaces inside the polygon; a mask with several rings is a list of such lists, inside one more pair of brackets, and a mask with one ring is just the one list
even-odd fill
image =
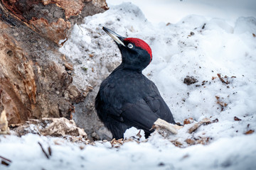
{"label": "bumpy, dirt-speckled snow bank rising behind the woodpecker", "polygon": [[[238,116],[255,128],[255,18],[238,18],[235,27],[222,19],[203,16],[187,16],[168,26],[152,25],[137,6],[125,3],[88,16],[84,22],[75,26],[70,40],[60,49],[75,63],[76,84],[85,88],[89,81],[90,86],[99,86],[119,64],[119,50],[102,30],[106,26],[120,35],[149,43],[153,61],[144,74],[159,87],[177,122],[185,118],[218,118],[216,127],[234,126],[242,135],[247,124],[235,122],[233,118]],[[86,74],[82,67],[87,68]],[[230,84],[223,84],[217,74],[230,77]],[[195,77],[198,83],[183,84],[186,76]],[[227,106],[222,108],[218,101]],[[220,132],[223,129],[213,133],[218,137]]]}

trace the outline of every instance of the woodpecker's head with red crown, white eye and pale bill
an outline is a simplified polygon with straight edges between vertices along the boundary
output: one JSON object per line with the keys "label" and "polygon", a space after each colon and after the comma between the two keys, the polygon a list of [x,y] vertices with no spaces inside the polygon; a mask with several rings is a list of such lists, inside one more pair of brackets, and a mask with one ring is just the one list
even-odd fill
{"label": "woodpecker's head with red crown, white eye and pale bill", "polygon": [[103,27],[103,30],[114,39],[122,54],[124,68],[142,72],[152,60],[152,52],[149,45],[139,38],[124,38],[114,31]]}

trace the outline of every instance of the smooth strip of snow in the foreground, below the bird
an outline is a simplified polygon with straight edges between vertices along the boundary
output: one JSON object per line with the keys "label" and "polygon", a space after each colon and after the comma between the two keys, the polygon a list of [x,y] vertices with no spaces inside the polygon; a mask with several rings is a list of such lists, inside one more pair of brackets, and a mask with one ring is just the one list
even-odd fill
{"label": "smooth strip of snow in the foreground, below the bird", "polygon": [[[58,137],[1,137],[0,155],[11,159],[6,169],[254,169],[255,135],[223,137],[210,145],[181,149],[160,135],[149,142],[127,142],[111,148],[110,142],[95,146],[74,144]],[[47,159],[41,147],[52,154]]]}

